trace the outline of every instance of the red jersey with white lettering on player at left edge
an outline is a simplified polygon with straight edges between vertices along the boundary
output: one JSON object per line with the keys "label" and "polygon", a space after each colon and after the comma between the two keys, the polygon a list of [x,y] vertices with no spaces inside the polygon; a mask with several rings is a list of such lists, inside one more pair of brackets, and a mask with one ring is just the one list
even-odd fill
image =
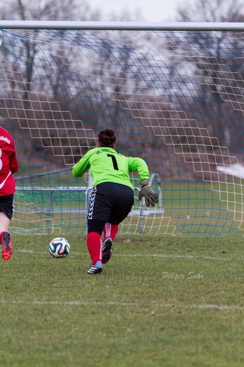
{"label": "red jersey with white lettering on player at left edge", "polygon": [[14,194],[15,181],[12,174],[18,170],[14,140],[0,127],[0,196]]}

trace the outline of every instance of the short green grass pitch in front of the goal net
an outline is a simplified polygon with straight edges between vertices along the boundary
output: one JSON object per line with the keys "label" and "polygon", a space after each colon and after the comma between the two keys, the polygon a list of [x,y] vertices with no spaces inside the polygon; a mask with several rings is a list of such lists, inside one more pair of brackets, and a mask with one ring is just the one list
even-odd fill
{"label": "short green grass pitch in front of the goal net", "polygon": [[243,238],[117,236],[87,275],[85,236],[13,235],[1,262],[1,367],[243,366]]}

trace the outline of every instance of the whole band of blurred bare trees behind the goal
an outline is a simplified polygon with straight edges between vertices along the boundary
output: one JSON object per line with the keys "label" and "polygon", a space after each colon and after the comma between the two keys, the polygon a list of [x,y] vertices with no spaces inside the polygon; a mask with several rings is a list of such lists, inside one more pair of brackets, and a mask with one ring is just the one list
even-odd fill
{"label": "whole band of blurred bare trees behind the goal", "polygon": [[[2,19],[101,20],[75,0],[0,1],[0,10]],[[196,0],[177,15],[243,18],[239,0]],[[12,30],[1,51],[1,113],[26,167],[71,164],[105,126],[115,128],[123,152],[168,175],[180,167],[206,178],[209,162],[242,154],[243,34]]]}

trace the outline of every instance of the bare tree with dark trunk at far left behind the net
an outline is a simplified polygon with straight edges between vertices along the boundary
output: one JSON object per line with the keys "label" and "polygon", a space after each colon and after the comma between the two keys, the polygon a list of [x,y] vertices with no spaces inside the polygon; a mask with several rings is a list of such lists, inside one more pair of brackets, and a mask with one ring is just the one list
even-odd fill
{"label": "bare tree with dark trunk at far left behind the net", "polygon": [[[92,10],[87,1],[78,0],[0,0],[0,12],[3,20],[100,20],[100,10]],[[55,34],[57,34],[56,37]],[[47,137],[57,139],[57,146],[59,144],[62,146],[63,137],[67,138],[65,129],[60,130],[62,136],[57,136],[56,129],[51,130],[50,134],[45,130],[45,127],[55,127],[57,114],[59,120],[65,120],[65,117],[69,120],[67,113],[65,115],[63,111],[65,104],[59,104],[60,101],[56,96],[67,95],[67,100],[71,99],[68,97],[70,93],[68,82],[60,85],[60,80],[65,80],[65,76],[70,79],[69,74],[73,71],[72,56],[69,54],[72,50],[72,43],[65,52],[61,41],[65,40],[67,36],[67,42],[68,36],[71,39],[72,34],[68,35],[68,32],[64,30],[54,30],[52,36],[54,37],[50,36],[49,42],[48,32],[45,34],[39,30],[34,32],[9,30],[5,32],[4,46],[2,46],[7,58],[2,61],[5,85],[1,91],[3,96],[1,112],[11,117],[12,125],[16,127],[15,135],[34,138],[33,148],[34,145],[39,147],[35,148],[35,155],[38,155],[38,149],[42,149],[41,146],[49,144]],[[55,38],[57,43],[54,44]],[[45,86],[45,93],[43,89],[41,91],[42,86]],[[14,105],[15,112],[12,113]],[[3,106],[8,112],[4,111]],[[63,123],[68,124],[69,122]],[[20,145],[25,144],[20,143]],[[76,137],[76,146],[78,145]],[[21,155],[29,159],[28,156],[33,156],[33,148],[23,148],[26,151]],[[50,151],[51,149],[46,150],[48,154]],[[62,160],[61,157],[60,161]]]}

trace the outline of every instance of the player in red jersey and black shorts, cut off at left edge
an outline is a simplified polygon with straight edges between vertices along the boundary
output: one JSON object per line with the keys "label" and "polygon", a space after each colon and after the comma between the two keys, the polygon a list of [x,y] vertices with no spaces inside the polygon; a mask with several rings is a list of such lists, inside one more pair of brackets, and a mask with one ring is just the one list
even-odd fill
{"label": "player in red jersey and black shorts, cut off at left edge", "polygon": [[12,174],[18,170],[14,141],[0,127],[0,244],[4,260],[12,255],[12,238],[8,226],[14,212],[15,181]]}

